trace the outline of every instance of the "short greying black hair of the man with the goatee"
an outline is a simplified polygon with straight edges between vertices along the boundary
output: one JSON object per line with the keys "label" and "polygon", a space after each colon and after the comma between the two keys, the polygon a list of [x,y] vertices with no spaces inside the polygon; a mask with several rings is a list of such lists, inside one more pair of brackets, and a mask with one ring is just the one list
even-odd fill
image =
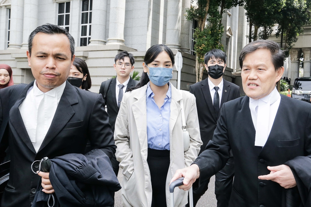
{"label": "short greying black hair of the man with the goatee", "polygon": [[68,37],[70,43],[71,59],[73,58],[73,55],[75,54],[75,40],[66,29],[50,23],[38,26],[35,30],[33,30],[30,33],[28,38],[28,52],[30,56],[31,56],[32,40],[34,39],[35,35],[38,34],[39,32],[43,32],[45,34],[65,34]]}

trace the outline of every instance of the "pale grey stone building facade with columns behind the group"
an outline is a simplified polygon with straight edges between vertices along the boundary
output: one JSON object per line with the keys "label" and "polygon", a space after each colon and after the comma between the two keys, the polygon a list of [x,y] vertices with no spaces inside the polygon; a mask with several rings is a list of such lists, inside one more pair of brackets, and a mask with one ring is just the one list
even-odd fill
{"label": "pale grey stone building facade with columns behind the group", "polygon": [[[117,53],[133,53],[134,70],[142,72],[146,50],[155,44],[166,44],[174,54],[182,52],[181,89],[188,90],[196,81],[192,36],[196,21],[185,17],[190,6],[191,0],[0,0],[0,62],[12,67],[15,83],[30,83],[34,77],[26,57],[28,36],[37,26],[52,23],[74,37],[76,57],[89,67],[93,92],[116,75]],[[239,52],[248,43],[244,13],[243,7],[234,7],[223,14],[229,81],[239,78]],[[172,82],[177,85],[177,72]]]}

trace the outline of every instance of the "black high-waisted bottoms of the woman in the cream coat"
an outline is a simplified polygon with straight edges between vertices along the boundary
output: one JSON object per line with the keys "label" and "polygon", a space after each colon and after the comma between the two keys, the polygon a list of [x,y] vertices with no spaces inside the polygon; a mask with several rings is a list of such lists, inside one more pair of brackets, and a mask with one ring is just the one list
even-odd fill
{"label": "black high-waisted bottoms of the woman in the cream coat", "polygon": [[148,148],[147,162],[152,185],[151,207],[165,207],[165,184],[170,163],[169,150],[154,150]]}

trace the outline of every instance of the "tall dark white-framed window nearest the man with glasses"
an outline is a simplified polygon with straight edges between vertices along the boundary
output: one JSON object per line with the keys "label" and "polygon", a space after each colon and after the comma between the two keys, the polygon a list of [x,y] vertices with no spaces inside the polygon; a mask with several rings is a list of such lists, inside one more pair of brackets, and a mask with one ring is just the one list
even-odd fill
{"label": "tall dark white-framed window nearest the man with glasses", "polygon": [[93,0],[82,1],[80,46],[87,46],[91,39]]}

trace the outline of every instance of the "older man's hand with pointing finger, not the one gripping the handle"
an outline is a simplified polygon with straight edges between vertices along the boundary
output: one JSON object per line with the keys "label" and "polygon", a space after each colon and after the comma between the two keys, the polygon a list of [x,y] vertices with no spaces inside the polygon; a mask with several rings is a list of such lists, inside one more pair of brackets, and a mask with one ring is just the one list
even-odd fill
{"label": "older man's hand with pointing finger, not the one gripping the handle", "polygon": [[297,185],[293,172],[287,165],[268,166],[267,168],[271,171],[270,174],[259,176],[258,179],[272,180],[284,188],[292,188]]}

